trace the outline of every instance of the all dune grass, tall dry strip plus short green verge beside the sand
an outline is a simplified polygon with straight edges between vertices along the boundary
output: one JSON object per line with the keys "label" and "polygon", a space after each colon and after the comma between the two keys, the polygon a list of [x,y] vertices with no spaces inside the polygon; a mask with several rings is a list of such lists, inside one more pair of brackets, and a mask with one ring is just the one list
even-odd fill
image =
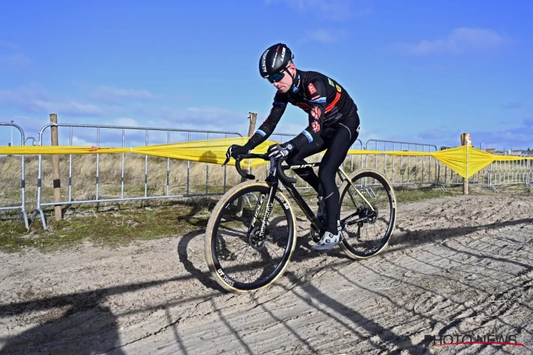
{"label": "all dune grass, tall dry strip plus short green verge beside the sand", "polygon": [[[318,161],[320,155],[308,158]],[[193,163],[166,158],[136,154],[120,155],[60,155],[61,198],[94,200],[124,197],[183,195],[186,193],[223,192],[241,181],[232,166]],[[391,156],[348,156],[343,168],[347,172],[367,166],[384,172],[395,184],[398,203],[404,204],[428,198],[462,194],[462,178],[438,163],[434,158]],[[97,169],[98,167],[98,169]],[[26,211],[36,208],[38,157],[25,158]],[[508,170],[508,171],[507,171]],[[527,170],[500,168],[507,174],[507,180],[524,179]],[[42,161],[42,201],[53,202],[52,160],[48,155]],[[98,174],[97,174],[98,172]],[[254,168],[257,178],[266,176],[266,167]],[[479,187],[488,181],[489,168],[470,178],[470,194],[490,194],[491,190]],[[145,173],[147,179],[145,181]],[[226,174],[225,174],[226,173]],[[96,185],[98,176],[98,188]],[[492,179],[497,178],[492,170]],[[121,184],[124,178],[124,185]],[[447,182],[447,192],[431,185]],[[416,182],[416,185],[402,185]],[[456,182],[456,185],[449,185]],[[16,206],[21,202],[21,157],[0,158],[0,206]],[[206,188],[207,184],[207,188]],[[226,187],[225,187],[226,184]],[[305,186],[298,179],[298,186]],[[532,189],[522,186],[507,187],[505,193],[531,194]],[[513,192],[514,191],[514,192]],[[315,207],[312,190],[301,190]],[[63,205],[63,220],[55,222],[53,207],[44,207],[48,229],[43,229],[41,221],[33,220],[30,231],[23,222],[16,219],[16,210],[0,212],[0,251],[19,252],[26,248],[41,251],[58,251],[90,241],[101,246],[121,246],[131,242],[183,236],[190,231],[205,228],[210,209],[216,204],[217,196],[161,198],[120,202],[100,202],[90,204]],[[301,214],[303,216],[303,214]]]}

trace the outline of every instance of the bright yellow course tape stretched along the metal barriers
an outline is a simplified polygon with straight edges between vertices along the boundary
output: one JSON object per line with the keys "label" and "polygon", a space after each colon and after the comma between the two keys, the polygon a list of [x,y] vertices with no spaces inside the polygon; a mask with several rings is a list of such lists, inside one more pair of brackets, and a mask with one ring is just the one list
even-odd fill
{"label": "bright yellow course tape stretched along the metal barriers", "polygon": [[[140,146],[135,148],[110,148],[88,146],[0,146],[0,154],[12,155],[50,155],[50,154],[116,154],[137,153],[141,155],[154,155],[163,158],[190,160],[201,163],[222,164],[226,159],[226,151],[232,144],[243,146],[249,137],[219,138],[203,141],[161,144],[157,146]],[[279,142],[264,141],[254,148],[254,153],[265,153],[271,144]],[[409,151],[365,151],[350,149],[349,155],[411,155],[432,156],[463,178],[478,173],[493,161],[511,161],[533,159],[513,155],[494,155],[470,146],[458,146],[436,152],[409,152]],[[243,167],[254,167],[268,163],[262,159],[247,159],[242,162]],[[235,165],[235,160],[230,159],[229,165]]]}

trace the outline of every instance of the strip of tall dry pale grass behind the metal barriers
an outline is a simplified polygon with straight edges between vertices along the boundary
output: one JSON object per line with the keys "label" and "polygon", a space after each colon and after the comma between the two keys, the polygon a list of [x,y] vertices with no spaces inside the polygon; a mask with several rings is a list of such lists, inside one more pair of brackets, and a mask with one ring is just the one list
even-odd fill
{"label": "strip of tall dry pale grass behind the metal barriers", "polygon": [[[318,161],[322,155],[313,155],[309,162]],[[71,199],[93,200],[124,197],[183,195],[205,192],[222,192],[224,185],[229,189],[241,181],[234,167],[194,163],[153,156],[126,154],[99,155],[60,155],[61,199],[69,200],[69,171],[71,170]],[[71,159],[71,160],[70,160]],[[124,163],[123,163],[124,161]],[[70,162],[72,163],[70,165]],[[349,155],[344,161],[347,172],[365,167],[379,170],[394,185],[416,182],[414,187],[431,185],[437,180],[441,183],[462,185],[463,179],[438,160],[432,157],[392,156],[392,155]],[[38,156],[26,155],[26,210],[36,207]],[[98,167],[98,169],[97,169]],[[168,186],[167,186],[168,169]],[[43,155],[42,160],[42,201],[53,202],[52,156]],[[98,171],[98,189],[97,189]],[[145,184],[145,171],[147,173]],[[265,165],[254,168],[252,173],[257,178],[265,178]],[[225,175],[226,172],[226,175]],[[207,174],[207,176],[206,176]],[[505,175],[504,175],[505,174]],[[475,185],[488,184],[490,167],[470,178]],[[527,165],[518,163],[497,165],[492,168],[492,181],[525,181]],[[124,187],[122,187],[124,177]],[[0,206],[15,206],[21,203],[21,157],[0,157]],[[207,185],[207,187],[206,187]],[[299,186],[306,185],[298,179]],[[168,189],[168,191],[167,191]],[[158,204],[161,200],[144,200],[127,202],[131,204]],[[126,202],[121,202],[126,203]],[[102,204],[100,204],[102,205]]]}

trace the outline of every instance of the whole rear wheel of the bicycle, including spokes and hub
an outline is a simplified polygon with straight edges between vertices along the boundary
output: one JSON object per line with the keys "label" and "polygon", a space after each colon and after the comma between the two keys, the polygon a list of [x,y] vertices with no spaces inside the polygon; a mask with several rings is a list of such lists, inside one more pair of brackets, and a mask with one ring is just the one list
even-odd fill
{"label": "whole rear wheel of the bicycle, including spokes and hub", "polygon": [[352,184],[344,181],[339,188],[339,216],[341,225],[345,224],[340,247],[352,259],[370,258],[389,244],[396,196],[387,178],[376,170],[357,170],[350,180]]}

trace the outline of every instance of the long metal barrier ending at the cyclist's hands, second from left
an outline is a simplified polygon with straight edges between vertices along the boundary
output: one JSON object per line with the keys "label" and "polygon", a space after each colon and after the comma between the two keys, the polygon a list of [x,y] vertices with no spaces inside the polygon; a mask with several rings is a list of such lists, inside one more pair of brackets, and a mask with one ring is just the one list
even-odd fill
{"label": "long metal barrier ending at the cyclist's hands, second from left", "polygon": [[[193,130],[193,129],[165,129],[165,128],[154,128],[154,127],[136,127],[136,126],[107,126],[107,125],[92,125],[92,124],[47,124],[43,126],[41,131],[39,131],[39,141],[38,145],[43,146],[43,137],[47,129],[52,126],[57,126],[58,131],[60,127],[67,127],[69,129],[69,143],[68,146],[72,146],[72,137],[73,129],[96,129],[96,145],[100,146],[100,133],[104,129],[111,129],[115,133],[117,130],[119,133],[122,133],[122,148],[124,148],[124,138],[126,131],[133,132],[144,132],[144,143],[146,146],[149,146],[149,132],[159,132],[166,133],[167,143],[171,143],[171,133],[186,133],[188,136],[187,141],[191,141],[191,133],[202,133],[207,135],[207,139],[210,138],[222,138],[222,137],[213,137],[215,134],[223,135],[227,138],[228,135],[232,136],[242,136],[237,132],[227,132],[227,131],[204,131],[204,130]],[[58,133],[59,134],[59,133]],[[205,138],[204,138],[205,139]],[[108,138],[109,140],[109,138]],[[196,140],[196,139],[193,139]],[[154,143],[151,143],[154,144]],[[65,144],[61,144],[65,146]],[[187,161],[187,180],[186,180],[186,189],[184,194],[170,194],[170,160],[167,158],[166,164],[166,193],[165,195],[149,195],[148,193],[148,155],[144,157],[144,196],[139,197],[124,197],[124,155],[122,153],[122,163],[121,163],[121,182],[120,182],[120,197],[115,198],[101,198],[99,195],[99,154],[96,154],[96,179],[95,179],[95,198],[85,199],[85,200],[72,200],[72,155],[69,155],[69,170],[68,170],[68,200],[61,200],[60,202],[45,202],[43,201],[42,193],[42,181],[43,181],[43,168],[42,168],[42,155],[39,155],[38,158],[38,182],[37,182],[37,207],[34,212],[34,216],[39,214],[41,221],[43,222],[43,228],[46,229],[46,221],[43,213],[44,206],[56,206],[63,204],[84,204],[84,203],[96,203],[96,202],[118,202],[118,201],[131,201],[131,200],[152,200],[152,199],[161,199],[161,198],[178,198],[178,197],[195,197],[195,196],[209,196],[209,195],[222,195],[226,192],[226,180],[227,172],[226,167],[224,169],[224,183],[223,183],[223,192],[209,192],[209,164],[205,163],[205,192],[201,193],[191,193],[190,192],[190,161]]]}

